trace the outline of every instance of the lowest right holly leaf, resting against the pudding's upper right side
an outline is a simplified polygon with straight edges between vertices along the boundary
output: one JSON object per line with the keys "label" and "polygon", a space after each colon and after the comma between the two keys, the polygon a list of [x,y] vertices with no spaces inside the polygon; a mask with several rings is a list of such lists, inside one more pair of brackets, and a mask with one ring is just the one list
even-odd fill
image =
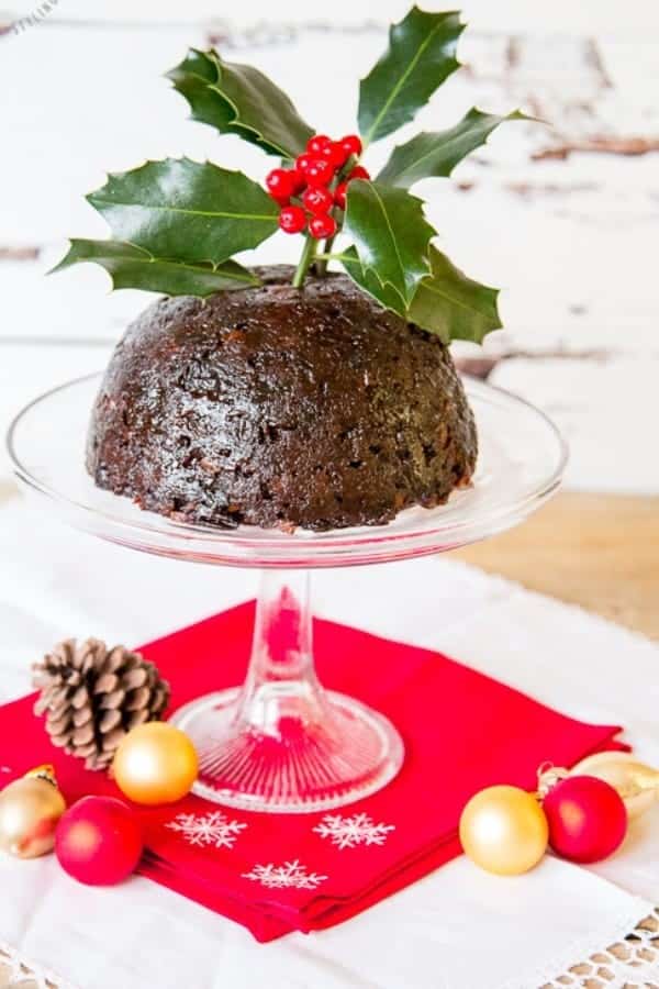
{"label": "lowest right holly leaf, resting against the pudding's upper right side", "polygon": [[424,278],[409,310],[409,319],[442,337],[482,343],[502,325],[496,305],[499,290],[472,281],[431,246],[432,274]]}

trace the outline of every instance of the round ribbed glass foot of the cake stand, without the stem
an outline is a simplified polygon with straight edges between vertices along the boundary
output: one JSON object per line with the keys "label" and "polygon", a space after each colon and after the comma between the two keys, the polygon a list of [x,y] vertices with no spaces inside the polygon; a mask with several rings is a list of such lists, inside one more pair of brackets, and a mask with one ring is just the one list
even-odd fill
{"label": "round ribbed glass foot of the cake stand, without the stem", "polygon": [[290,712],[290,694],[261,696],[264,731],[241,718],[241,696],[209,694],[174,719],[199,753],[199,797],[244,810],[321,811],[373,793],[400,769],[398,732],[359,701],[327,691],[325,716],[308,721],[303,711]]}

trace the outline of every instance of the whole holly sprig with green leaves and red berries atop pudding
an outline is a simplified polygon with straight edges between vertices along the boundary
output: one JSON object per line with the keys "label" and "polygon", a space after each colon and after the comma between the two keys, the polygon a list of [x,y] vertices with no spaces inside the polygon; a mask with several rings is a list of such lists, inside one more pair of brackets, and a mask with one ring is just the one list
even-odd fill
{"label": "whole holly sprig with green leaves and red berries atop pudding", "polygon": [[56,270],[96,262],[114,288],[205,297],[258,285],[234,255],[282,230],[304,236],[298,288],[312,268],[323,275],[338,263],[386,309],[444,342],[481,342],[501,326],[498,290],[468,278],[437,248],[437,231],[411,190],[450,176],[503,122],[527,118],[473,108],[454,127],[394,147],[375,179],[362,164],[369,144],[413,120],[459,68],[463,30],[459,12],[417,7],[393,24],[387,51],[360,84],[359,133],[339,141],[315,133],[257,69],[191,49],[168,78],[192,119],[278,156],[281,165],[268,174],[266,189],[239,171],[188,158],[110,175],[88,201],[112,238],[71,241]]}

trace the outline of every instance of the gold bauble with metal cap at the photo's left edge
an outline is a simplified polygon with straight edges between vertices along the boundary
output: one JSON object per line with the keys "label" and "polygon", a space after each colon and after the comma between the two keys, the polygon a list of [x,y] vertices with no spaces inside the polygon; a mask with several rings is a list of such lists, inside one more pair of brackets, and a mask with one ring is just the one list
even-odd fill
{"label": "gold bauble with metal cap at the photo's left edge", "polygon": [[66,810],[52,766],[32,769],[0,793],[0,848],[16,858],[53,851],[55,829]]}

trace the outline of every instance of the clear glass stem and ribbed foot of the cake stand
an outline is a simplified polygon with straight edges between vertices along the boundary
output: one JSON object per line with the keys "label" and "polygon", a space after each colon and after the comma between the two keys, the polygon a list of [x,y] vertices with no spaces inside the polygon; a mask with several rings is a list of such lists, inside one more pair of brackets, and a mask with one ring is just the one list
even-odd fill
{"label": "clear glass stem and ribbed foot of the cake stand", "polygon": [[[222,643],[217,652],[221,662]],[[301,570],[264,571],[245,685],[199,698],[171,721],[199,754],[193,792],[243,810],[342,807],[386,786],[404,755],[384,716],[319,682]]]}

